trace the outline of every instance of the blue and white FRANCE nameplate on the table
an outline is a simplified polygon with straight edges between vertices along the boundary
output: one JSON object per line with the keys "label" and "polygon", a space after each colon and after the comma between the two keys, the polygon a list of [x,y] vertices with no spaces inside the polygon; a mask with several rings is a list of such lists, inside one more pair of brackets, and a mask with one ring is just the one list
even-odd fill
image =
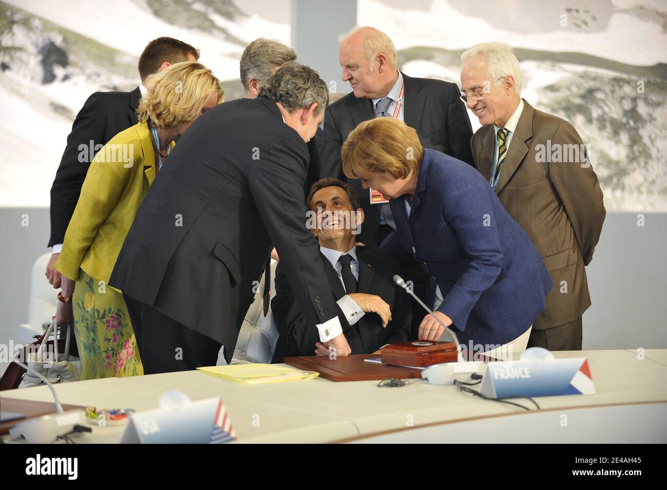
{"label": "blue and white FRANCE nameplate on the table", "polygon": [[488,363],[480,393],[504,398],[594,395],[588,359],[547,359]]}

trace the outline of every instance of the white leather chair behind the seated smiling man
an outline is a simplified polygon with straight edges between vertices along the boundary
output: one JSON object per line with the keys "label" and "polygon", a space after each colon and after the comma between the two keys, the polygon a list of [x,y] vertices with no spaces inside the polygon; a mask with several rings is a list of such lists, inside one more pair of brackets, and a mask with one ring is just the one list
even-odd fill
{"label": "white leather chair behind the seated smiling man", "polygon": [[[271,261],[271,298],[275,295],[275,267],[277,261]],[[270,363],[275,351],[275,343],[278,340],[278,329],[273,321],[273,314],[269,305],[266,317],[262,309],[262,297],[264,292],[264,275],[262,274],[255,298],[250,305],[243,325],[236,341],[236,348],[231,359],[232,364],[237,363]],[[225,365],[222,349],[218,354],[217,365]]]}

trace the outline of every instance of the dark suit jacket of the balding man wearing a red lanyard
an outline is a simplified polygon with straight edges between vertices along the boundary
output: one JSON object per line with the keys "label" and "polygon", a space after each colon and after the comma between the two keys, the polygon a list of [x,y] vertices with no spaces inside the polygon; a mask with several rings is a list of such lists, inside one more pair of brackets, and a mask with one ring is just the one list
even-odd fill
{"label": "dark suit jacket of the balding man wearing a red lanyard", "polygon": [[[455,83],[442,80],[413,78],[403,74],[405,83],[405,123],[416,129],[424,148],[447,153],[472,165],[470,137],[472,127],[461,93]],[[340,149],[348,135],[359,123],[373,119],[373,101],[358,99],[348,93],[334,102],[324,115],[324,134],[319,151],[320,178],[338,177],[348,179],[343,174]],[[378,244],[380,209],[370,203],[368,189],[363,189],[361,181],[351,179],[362,200],[366,213],[359,240],[366,245]]]}

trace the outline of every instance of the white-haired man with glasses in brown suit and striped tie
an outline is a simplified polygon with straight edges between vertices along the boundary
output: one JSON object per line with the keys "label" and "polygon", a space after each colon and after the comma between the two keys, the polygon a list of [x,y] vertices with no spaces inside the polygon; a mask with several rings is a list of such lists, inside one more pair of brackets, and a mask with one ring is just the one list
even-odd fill
{"label": "white-haired man with glasses in brown suit and striped tie", "polygon": [[582,314],[590,306],[584,266],[606,214],[588,149],[568,121],[521,98],[521,69],[508,45],[478,44],[461,62],[461,98],[482,123],[471,140],[475,165],[540,251],[554,283],[528,347],[580,350]]}

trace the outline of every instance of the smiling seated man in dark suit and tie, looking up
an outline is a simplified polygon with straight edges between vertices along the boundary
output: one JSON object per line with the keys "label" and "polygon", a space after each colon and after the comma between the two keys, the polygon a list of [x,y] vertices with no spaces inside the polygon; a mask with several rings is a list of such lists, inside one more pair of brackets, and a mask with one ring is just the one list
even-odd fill
{"label": "smiling seated man in dark suit and tie, looking up", "polygon": [[[370,354],[384,345],[407,341],[412,311],[410,298],[392,279],[401,273],[398,259],[377,247],[354,245],[354,230],[364,221],[354,187],[339,179],[321,179],[311,187],[306,205],[352,354]],[[276,295],[271,301],[280,334],[273,362],[287,356],[329,355],[317,331],[303,318],[282,265],[279,262],[276,269]]]}

